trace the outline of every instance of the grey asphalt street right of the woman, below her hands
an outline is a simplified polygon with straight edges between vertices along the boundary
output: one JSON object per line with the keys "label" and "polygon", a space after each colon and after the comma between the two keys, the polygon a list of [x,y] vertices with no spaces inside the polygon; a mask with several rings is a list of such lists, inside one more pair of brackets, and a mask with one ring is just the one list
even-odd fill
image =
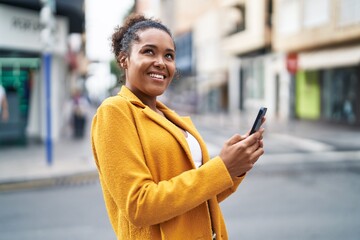
{"label": "grey asphalt street right of the woman, below her hands", "polygon": [[360,166],[330,165],[253,169],[222,204],[229,238],[358,239]]}

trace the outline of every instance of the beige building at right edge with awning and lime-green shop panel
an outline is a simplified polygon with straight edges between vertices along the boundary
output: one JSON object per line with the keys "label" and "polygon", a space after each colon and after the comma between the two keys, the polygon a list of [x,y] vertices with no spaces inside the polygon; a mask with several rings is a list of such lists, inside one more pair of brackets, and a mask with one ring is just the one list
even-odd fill
{"label": "beige building at right edge with awning and lime-green shop panel", "polygon": [[360,2],[275,1],[275,51],[294,56],[295,117],[360,125]]}

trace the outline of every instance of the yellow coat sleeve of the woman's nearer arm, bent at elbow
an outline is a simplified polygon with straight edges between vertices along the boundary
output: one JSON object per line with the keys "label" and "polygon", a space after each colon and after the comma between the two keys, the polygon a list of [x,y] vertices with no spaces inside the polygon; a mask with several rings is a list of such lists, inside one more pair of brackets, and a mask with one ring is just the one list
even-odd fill
{"label": "yellow coat sleeve of the woman's nearer arm, bent at elbow", "polygon": [[119,211],[136,226],[174,218],[234,184],[220,158],[154,182],[128,106],[105,104],[98,109],[92,143],[103,187]]}

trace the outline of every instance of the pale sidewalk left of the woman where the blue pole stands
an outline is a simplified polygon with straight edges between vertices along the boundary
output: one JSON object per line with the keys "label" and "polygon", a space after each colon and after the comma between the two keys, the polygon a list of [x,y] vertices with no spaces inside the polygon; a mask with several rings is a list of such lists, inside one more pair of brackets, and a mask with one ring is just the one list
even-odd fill
{"label": "pale sidewalk left of the woman where the blue pole stands", "polygon": [[88,134],[53,143],[49,164],[43,144],[0,148],[0,191],[86,183],[98,179]]}

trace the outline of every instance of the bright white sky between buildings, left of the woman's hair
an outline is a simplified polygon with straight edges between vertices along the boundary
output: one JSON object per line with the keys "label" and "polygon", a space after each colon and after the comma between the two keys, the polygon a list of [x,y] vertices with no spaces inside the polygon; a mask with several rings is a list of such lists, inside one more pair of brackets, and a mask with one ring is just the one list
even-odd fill
{"label": "bright white sky between buildings, left of the woman's hair", "polygon": [[92,62],[86,88],[89,96],[97,101],[107,97],[108,89],[116,84],[110,73],[111,35],[121,25],[133,0],[85,0],[86,55]]}

